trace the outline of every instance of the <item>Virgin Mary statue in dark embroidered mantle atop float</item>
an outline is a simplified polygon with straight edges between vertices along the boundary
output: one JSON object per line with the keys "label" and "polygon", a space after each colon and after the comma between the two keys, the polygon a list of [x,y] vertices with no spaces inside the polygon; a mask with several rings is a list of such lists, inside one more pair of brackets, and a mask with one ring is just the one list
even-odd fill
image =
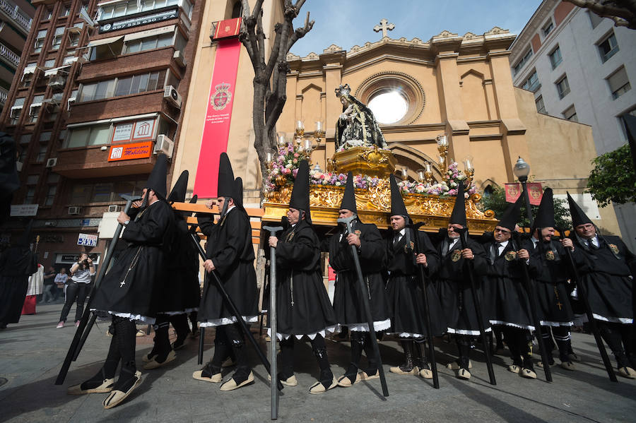
{"label": "Virgin Mary statue in dark embroidered mantle atop float", "polygon": [[384,141],[373,112],[351,95],[349,84],[336,88],[336,97],[342,103],[342,114],[336,124],[336,151],[374,145],[387,148],[387,141]]}

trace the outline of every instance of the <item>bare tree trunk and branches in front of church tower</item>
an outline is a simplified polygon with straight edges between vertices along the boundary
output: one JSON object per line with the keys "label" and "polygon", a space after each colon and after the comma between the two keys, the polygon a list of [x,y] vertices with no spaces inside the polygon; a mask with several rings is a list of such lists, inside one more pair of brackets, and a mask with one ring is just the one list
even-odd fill
{"label": "bare tree trunk and branches in front of church tower", "polygon": [[257,0],[252,13],[249,13],[247,0],[242,0],[243,25],[239,40],[247,49],[249,59],[254,67],[254,105],[252,106],[252,120],[254,124],[254,148],[256,148],[261,162],[261,173],[265,174],[265,152],[268,148],[276,147],[276,121],[283,112],[287,100],[287,73],[289,64],[287,54],[294,43],[310,32],[314,21],[309,20],[307,12],[305,26],[294,30],[292,21],[305,0],[284,0],[283,22],[276,23],[274,32],[276,37],[271,44],[269,57],[265,50],[265,32],[263,31],[263,0]]}

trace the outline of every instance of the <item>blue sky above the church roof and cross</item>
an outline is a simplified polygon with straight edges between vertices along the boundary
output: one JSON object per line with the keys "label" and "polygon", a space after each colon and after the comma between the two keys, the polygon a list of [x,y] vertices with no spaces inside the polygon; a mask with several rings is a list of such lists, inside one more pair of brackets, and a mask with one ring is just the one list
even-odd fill
{"label": "blue sky above the church roof and cross", "polygon": [[349,50],[355,44],[375,42],[382,32],[374,32],[373,27],[382,18],[395,24],[388,34],[393,39],[428,41],[442,30],[481,35],[494,26],[518,35],[539,4],[540,0],[307,0],[294,25],[303,25],[309,11],[314,28],[291,52],[307,56],[321,54],[331,44]]}

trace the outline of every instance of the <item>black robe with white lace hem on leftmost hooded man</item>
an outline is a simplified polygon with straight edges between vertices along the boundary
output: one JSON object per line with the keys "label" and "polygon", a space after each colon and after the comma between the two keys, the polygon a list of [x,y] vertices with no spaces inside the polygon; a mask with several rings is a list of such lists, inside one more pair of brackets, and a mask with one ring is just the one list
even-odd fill
{"label": "black robe with white lace hem on leftmost hooded man", "polygon": [[136,213],[122,234],[128,245],[95,292],[93,309],[154,323],[165,287],[174,219],[163,200]]}

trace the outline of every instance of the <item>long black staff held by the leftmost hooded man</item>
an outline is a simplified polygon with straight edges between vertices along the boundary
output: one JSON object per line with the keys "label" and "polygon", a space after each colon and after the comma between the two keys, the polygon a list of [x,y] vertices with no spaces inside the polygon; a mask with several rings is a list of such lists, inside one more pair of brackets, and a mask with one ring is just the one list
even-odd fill
{"label": "long black staff held by the leftmost hooded man", "polygon": [[[126,205],[124,206],[124,213],[126,215],[130,211],[132,207],[132,203],[135,201],[141,200],[141,197],[138,196],[128,196],[126,194],[122,195],[122,198],[126,200]],[[84,313],[82,314],[82,318],[80,320],[80,324],[75,331],[75,336],[73,336],[73,341],[71,341],[71,346],[69,347],[69,352],[66,353],[66,358],[64,359],[64,363],[62,364],[61,369],[59,369],[59,374],[57,374],[57,379],[55,380],[56,385],[61,385],[64,383],[64,379],[66,379],[66,374],[69,373],[69,367],[71,367],[71,361],[75,361],[86,342],[86,338],[88,338],[88,333],[90,333],[90,329],[93,328],[93,324],[95,324],[95,319],[97,316],[95,314],[91,314],[90,312],[90,304],[93,302],[93,298],[95,298],[95,292],[100,287],[102,283],[102,279],[106,274],[106,270],[108,265],[110,264],[110,258],[112,257],[112,253],[117,246],[117,242],[119,241],[119,235],[122,234],[122,230],[124,229],[124,225],[121,223],[117,224],[117,228],[112,236],[112,242],[110,244],[110,248],[106,251],[106,256],[104,257],[104,261],[100,266],[100,272],[98,273],[98,277],[95,278],[95,285],[90,289],[90,294],[88,302],[86,303],[86,309],[84,309]],[[89,321],[90,316],[90,321]]]}

